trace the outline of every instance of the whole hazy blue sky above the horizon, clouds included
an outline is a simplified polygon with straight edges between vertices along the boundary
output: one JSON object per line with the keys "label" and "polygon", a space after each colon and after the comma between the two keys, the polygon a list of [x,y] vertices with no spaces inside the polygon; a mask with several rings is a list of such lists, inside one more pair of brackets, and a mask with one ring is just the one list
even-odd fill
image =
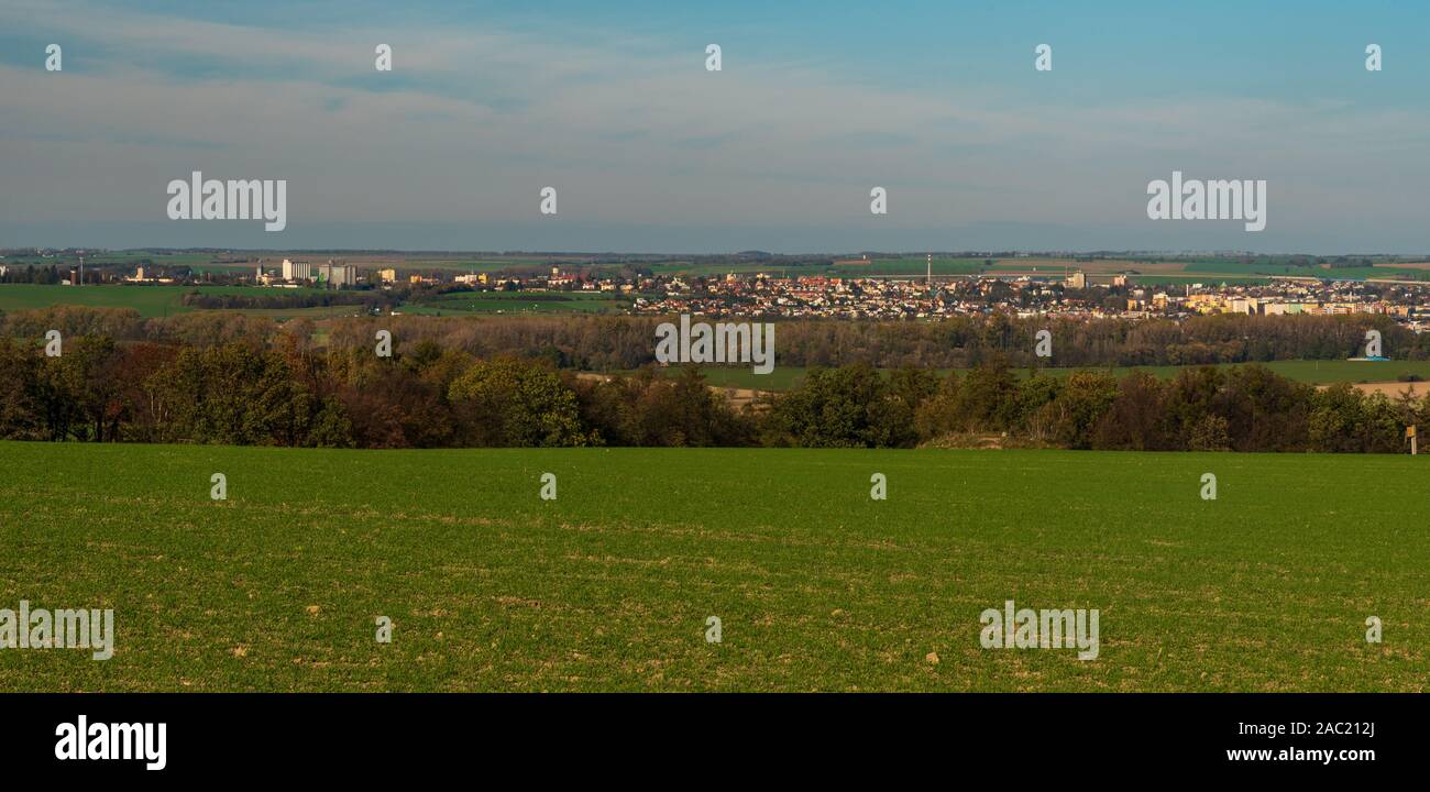
{"label": "whole hazy blue sky above the horizon, clouds included", "polygon": [[[1414,3],[7,0],[0,247],[1426,253],[1426,30]],[[286,179],[287,230],[167,220],[192,170]],[[1266,179],[1267,229],[1148,220],[1173,170]]]}

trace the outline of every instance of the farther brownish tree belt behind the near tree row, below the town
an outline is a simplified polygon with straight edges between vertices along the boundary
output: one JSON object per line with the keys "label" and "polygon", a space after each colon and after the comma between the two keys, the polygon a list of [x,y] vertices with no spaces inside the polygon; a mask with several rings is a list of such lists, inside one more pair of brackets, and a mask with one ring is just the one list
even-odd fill
{"label": "farther brownish tree belt behind the near tree row, below the town", "polygon": [[[345,297],[368,299],[368,297]],[[476,357],[541,356],[562,369],[611,372],[655,360],[655,326],[668,317],[499,316],[452,319],[382,316],[325,323],[337,349],[370,349],[379,329],[403,343],[432,342]],[[104,335],[116,340],[267,345],[279,335],[309,339],[315,327],[279,327],[240,313],[194,312],[142,319],[127,309],[57,306],[0,316],[0,335],[40,337],[46,330]],[[781,320],[775,323],[779,366],[868,363],[877,369],[968,369],[991,359],[1031,366],[1183,366],[1270,360],[1331,360],[1366,352],[1366,332],[1379,330],[1384,355],[1430,359],[1430,333],[1416,335],[1389,316],[1197,316],[1181,322],[1127,319],[1015,317],[1004,313],[931,322]],[[1052,336],[1052,356],[1035,355],[1037,333]]]}

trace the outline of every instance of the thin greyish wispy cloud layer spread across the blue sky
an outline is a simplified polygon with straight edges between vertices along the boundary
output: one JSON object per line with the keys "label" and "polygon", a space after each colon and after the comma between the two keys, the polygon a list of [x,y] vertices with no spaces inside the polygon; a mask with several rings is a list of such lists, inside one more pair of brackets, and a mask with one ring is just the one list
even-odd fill
{"label": "thin greyish wispy cloud layer spread across the blue sky", "polygon": [[[150,222],[169,179],[203,170],[287,179],[295,229],[465,224],[480,229],[472,246],[528,227],[546,184],[561,190],[556,223],[588,229],[1032,224],[1115,236],[1141,217],[1147,180],[1180,169],[1268,179],[1270,227],[1284,234],[1268,239],[1344,227],[1347,246],[1363,246],[1374,240],[1357,234],[1419,233],[1430,179],[1430,112],[1414,106],[1115,90],[1095,103],[1010,103],[1005,86],[891,89],[821,67],[828,54],[749,60],[738,41],[725,70],[708,73],[702,49],[675,44],[688,36],[589,26],[355,19],[315,31],[14,0],[0,27],[54,36],[84,63],[60,74],[40,56],[0,66],[0,180],[21,186],[0,199],[10,234]],[[378,43],[395,49],[390,74],[373,70]],[[891,192],[878,220],[867,210],[874,184]],[[502,246],[552,247],[542,224],[531,229]],[[1175,233],[1168,247],[1195,246],[1204,230]]]}

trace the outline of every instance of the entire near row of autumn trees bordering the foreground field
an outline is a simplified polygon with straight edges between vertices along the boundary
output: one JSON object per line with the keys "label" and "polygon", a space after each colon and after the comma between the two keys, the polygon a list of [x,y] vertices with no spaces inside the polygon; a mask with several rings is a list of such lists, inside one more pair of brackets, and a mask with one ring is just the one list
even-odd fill
{"label": "entire near row of autumn trees bordering the foreground field", "polygon": [[578,375],[539,357],[480,359],[426,340],[372,349],[64,342],[46,356],[0,340],[0,437],[226,445],[807,446],[1022,443],[1071,449],[1377,452],[1430,425],[1430,396],[1318,390],[1264,366],[1161,380],[1094,370],[1020,377],[997,357],[967,372],[814,369],[735,409],[696,369]]}

